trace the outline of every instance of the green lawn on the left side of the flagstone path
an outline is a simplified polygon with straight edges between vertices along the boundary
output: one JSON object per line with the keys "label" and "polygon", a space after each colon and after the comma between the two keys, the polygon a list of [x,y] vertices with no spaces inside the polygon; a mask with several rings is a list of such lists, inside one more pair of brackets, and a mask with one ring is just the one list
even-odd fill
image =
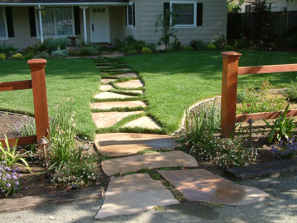
{"label": "green lawn on the left side of the flagstone path", "polygon": [[[0,61],[0,67],[0,82],[31,79],[27,60]],[[58,104],[60,99],[73,98],[78,135],[94,139],[96,126],[89,104],[98,90],[100,75],[92,59],[48,59],[45,73],[49,107]],[[0,92],[0,111],[32,115],[32,90]]]}

